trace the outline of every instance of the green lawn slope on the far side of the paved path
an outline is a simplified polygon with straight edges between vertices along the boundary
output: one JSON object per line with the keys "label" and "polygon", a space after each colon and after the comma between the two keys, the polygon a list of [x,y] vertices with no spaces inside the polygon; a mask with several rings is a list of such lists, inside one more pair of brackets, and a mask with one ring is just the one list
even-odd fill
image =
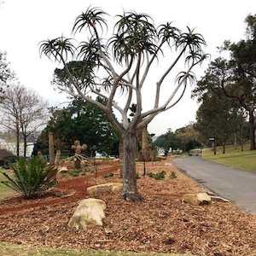
{"label": "green lawn slope on the far side of the paved path", "polygon": [[202,158],[227,166],[256,172],[256,150],[250,151],[248,145],[245,145],[243,152],[241,152],[241,148],[237,147],[235,149],[234,146],[227,146],[225,154],[223,154],[223,148],[218,147],[216,155],[212,151],[208,151],[202,154]]}

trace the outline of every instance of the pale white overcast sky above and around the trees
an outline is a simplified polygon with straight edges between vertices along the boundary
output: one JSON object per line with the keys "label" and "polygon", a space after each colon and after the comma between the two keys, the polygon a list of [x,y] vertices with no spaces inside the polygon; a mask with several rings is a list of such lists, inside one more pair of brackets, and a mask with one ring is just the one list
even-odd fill
{"label": "pale white overcast sky above and around the trees", "polygon": [[[245,36],[244,20],[256,14],[255,0],[2,0],[0,3],[0,49],[7,52],[10,67],[20,84],[35,90],[50,106],[67,102],[65,95],[54,90],[50,81],[56,64],[39,55],[39,42],[61,34],[70,37],[73,22],[90,5],[100,7],[113,20],[114,15],[135,10],[150,15],[155,24],[173,21],[174,26],[195,28],[207,42],[205,51],[214,60],[218,46],[229,39],[237,42]],[[196,68],[201,79],[207,64]],[[154,74],[153,74],[154,75]],[[149,125],[148,131],[157,136],[168,129],[176,129],[195,121],[198,109],[188,86],[183,99],[165,113],[160,113]],[[150,96],[149,96],[150,97]]]}

